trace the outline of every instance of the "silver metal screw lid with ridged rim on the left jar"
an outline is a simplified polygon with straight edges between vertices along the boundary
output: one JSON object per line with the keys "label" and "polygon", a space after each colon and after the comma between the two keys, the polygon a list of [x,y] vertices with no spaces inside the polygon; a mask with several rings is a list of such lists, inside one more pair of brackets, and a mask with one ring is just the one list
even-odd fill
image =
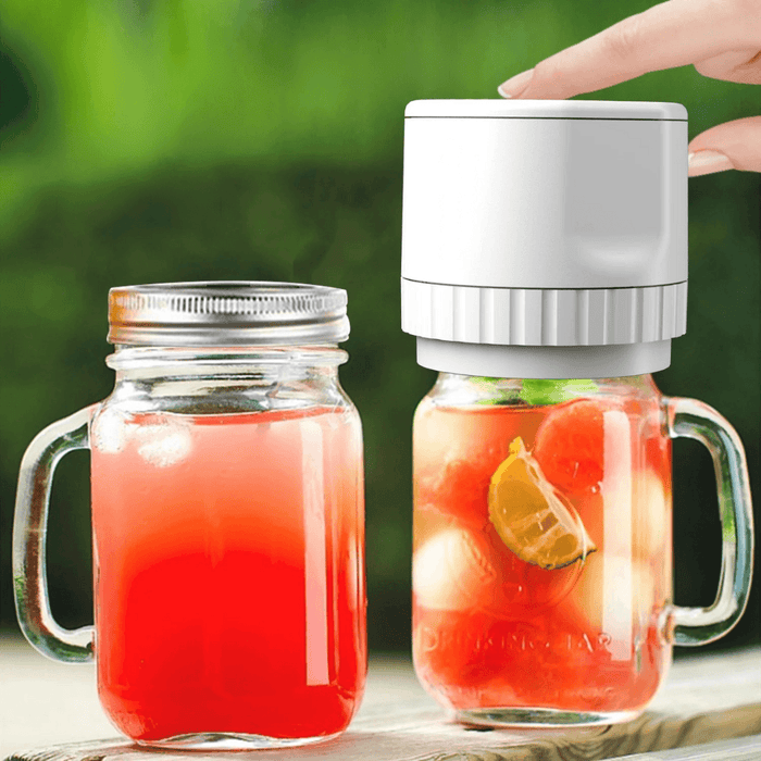
{"label": "silver metal screw lid with ridged rim on the left jar", "polygon": [[341,288],[301,283],[202,282],[109,291],[111,344],[302,346],[349,337]]}

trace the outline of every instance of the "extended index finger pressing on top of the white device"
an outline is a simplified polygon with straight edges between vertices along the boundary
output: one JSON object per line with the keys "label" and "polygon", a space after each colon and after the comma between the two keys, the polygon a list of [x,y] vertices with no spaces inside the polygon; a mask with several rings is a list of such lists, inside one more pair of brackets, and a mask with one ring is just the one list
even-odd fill
{"label": "extended index finger pressing on top of the white device", "polygon": [[748,0],[669,0],[545,59],[531,76],[524,72],[508,79],[500,85],[500,95],[570,98],[753,45],[753,25],[747,23],[750,4]]}

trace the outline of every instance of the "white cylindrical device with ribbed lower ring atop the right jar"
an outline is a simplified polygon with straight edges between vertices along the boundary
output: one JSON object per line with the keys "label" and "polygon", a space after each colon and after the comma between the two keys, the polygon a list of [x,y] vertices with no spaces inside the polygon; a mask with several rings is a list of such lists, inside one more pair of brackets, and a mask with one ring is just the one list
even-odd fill
{"label": "white cylindrical device with ribbed lower ring atop the right jar", "polygon": [[[415,101],[406,117],[402,327],[419,361],[489,374],[510,354],[516,377],[560,377],[584,361],[552,348],[626,345],[595,371],[668,365],[686,326],[682,105]],[[547,350],[496,349],[519,346]]]}

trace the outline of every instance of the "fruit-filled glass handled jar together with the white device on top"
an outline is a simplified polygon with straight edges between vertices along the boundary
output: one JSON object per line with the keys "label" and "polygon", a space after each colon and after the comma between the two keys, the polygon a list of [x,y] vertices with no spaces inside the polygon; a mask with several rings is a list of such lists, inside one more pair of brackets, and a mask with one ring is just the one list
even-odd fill
{"label": "fruit-filled glass handled jar together with the white device on top", "polygon": [[[416,101],[402,327],[439,372],[413,428],[413,654],[462,722],[625,721],[672,646],[748,599],[745,454],[661,396],[686,329],[687,114],[675,103]],[[671,439],[713,458],[715,602],[672,601]]]}

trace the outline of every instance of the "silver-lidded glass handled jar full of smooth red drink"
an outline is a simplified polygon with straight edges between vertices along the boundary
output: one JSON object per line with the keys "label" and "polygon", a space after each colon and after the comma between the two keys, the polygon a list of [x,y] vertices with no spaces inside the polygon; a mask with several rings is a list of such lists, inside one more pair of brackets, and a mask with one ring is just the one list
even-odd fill
{"label": "silver-lidded glass handled jar full of smooth red drink", "polygon": [[[362,434],[338,382],[346,292],[185,283],[110,292],[113,392],[22,462],[14,582],[51,658],[95,659],[141,744],[300,745],[342,732],[366,672]],[[61,628],[50,483],[91,451],[95,627]]]}

